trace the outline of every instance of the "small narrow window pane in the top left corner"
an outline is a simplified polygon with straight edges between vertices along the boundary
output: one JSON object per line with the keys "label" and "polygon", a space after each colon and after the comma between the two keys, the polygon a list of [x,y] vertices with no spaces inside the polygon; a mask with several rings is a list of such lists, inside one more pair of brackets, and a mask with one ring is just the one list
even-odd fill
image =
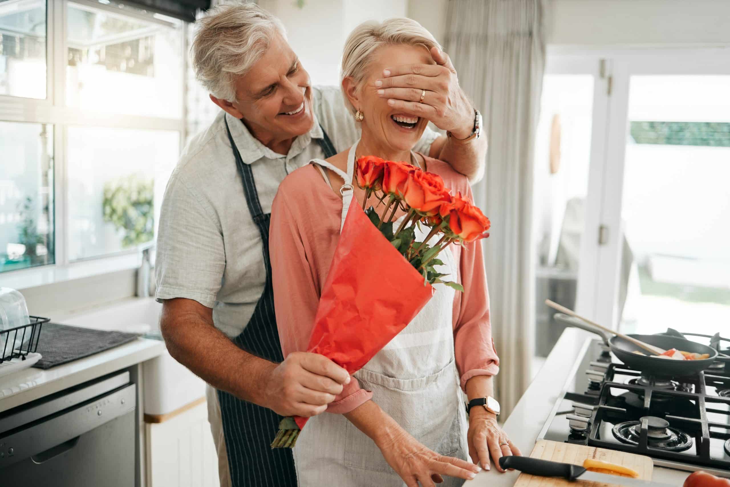
{"label": "small narrow window pane in the top left corner", "polygon": [[46,97],[46,6],[0,0],[0,95]]}

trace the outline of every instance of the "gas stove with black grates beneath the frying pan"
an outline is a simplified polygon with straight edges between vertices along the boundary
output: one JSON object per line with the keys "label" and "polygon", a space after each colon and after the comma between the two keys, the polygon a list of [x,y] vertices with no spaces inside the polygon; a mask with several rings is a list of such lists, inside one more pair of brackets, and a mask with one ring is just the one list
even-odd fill
{"label": "gas stove with black grates beneath the frying pan", "polygon": [[602,340],[588,340],[539,438],[730,477],[730,361],[688,377],[657,377],[622,364]]}

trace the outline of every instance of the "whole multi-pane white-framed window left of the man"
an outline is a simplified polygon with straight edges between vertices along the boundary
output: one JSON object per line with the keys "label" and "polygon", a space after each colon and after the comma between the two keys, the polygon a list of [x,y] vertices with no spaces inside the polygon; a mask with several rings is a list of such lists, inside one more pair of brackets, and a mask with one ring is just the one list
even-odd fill
{"label": "whole multi-pane white-framed window left of the man", "polygon": [[110,0],[0,0],[0,272],[155,238],[185,132],[184,31]]}

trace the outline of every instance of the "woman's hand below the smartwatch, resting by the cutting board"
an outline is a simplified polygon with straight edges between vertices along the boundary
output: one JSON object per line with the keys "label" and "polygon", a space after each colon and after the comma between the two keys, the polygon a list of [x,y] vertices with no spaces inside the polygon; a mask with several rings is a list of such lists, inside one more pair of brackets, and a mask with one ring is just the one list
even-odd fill
{"label": "woman's hand below the smartwatch, resting by the cutting board", "polygon": [[469,443],[469,456],[475,464],[489,469],[491,454],[499,472],[504,469],[499,466],[499,458],[508,455],[522,455],[520,449],[507,438],[507,434],[497,424],[497,417],[486,410],[472,408],[469,414],[469,433],[466,436]]}

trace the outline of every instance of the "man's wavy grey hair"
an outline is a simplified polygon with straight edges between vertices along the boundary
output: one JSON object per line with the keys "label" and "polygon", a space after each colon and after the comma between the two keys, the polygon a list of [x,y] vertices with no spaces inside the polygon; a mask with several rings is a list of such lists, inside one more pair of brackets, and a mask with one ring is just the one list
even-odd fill
{"label": "man's wavy grey hair", "polygon": [[216,98],[236,100],[235,80],[261,59],[284,24],[256,4],[223,4],[197,20],[191,46],[199,82]]}

